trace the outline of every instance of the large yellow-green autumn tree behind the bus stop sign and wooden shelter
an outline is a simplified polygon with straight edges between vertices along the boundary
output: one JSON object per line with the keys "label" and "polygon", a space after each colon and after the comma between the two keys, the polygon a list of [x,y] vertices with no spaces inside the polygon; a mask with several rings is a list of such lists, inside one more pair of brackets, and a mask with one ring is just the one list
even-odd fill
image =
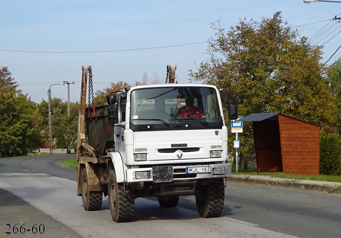
{"label": "large yellow-green autumn tree behind the bus stop sign and wooden shelter", "polygon": [[[338,109],[329,81],[323,77],[328,70],[319,63],[321,47],[300,37],[282,21],[280,12],[259,22],[242,19],[229,31],[219,21],[211,27],[215,36],[208,45],[210,58],[201,62],[197,72],[190,70],[191,81],[231,91],[242,116],[280,112],[323,125],[323,133],[335,130]],[[227,100],[223,94],[224,105]],[[243,156],[253,156],[251,123],[245,123],[240,140]]]}

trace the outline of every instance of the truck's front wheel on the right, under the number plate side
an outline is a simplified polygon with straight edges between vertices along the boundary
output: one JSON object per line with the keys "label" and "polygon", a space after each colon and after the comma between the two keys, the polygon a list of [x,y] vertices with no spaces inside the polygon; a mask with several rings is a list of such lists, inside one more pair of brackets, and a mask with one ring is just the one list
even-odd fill
{"label": "truck's front wheel on the right, under the number plate side", "polygon": [[223,181],[202,186],[203,196],[195,197],[196,207],[203,218],[219,217],[225,198]]}

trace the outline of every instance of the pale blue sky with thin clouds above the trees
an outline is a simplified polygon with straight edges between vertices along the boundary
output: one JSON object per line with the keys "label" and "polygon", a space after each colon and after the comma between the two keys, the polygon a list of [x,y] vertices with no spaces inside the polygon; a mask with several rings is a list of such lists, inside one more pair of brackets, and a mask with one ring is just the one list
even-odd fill
{"label": "pale blue sky with thin clouds above the trees", "polygon": [[[337,34],[341,23],[330,21],[341,14],[341,2],[1,0],[0,6],[0,66],[8,66],[19,84],[17,89],[36,103],[48,100],[49,88],[52,98],[67,101],[67,85],[51,86],[63,81],[75,82],[70,84],[70,101],[79,101],[82,65],[92,66],[94,92],[120,80],[134,84],[144,72],[149,76],[156,73],[164,81],[168,64],[177,65],[179,83],[189,83],[188,71],[196,71],[200,62],[209,58],[205,54],[207,40],[214,36],[210,24],[219,19],[228,30],[245,17],[247,21],[260,20],[281,11],[284,21],[310,39],[330,26],[330,32],[334,31],[326,32],[317,43],[335,35],[324,44],[321,62],[338,49],[341,37]],[[165,47],[175,45],[182,46]],[[164,48],[141,49],[153,47]],[[112,52],[60,53],[70,51]],[[337,60],[339,53],[341,49],[328,64]]]}

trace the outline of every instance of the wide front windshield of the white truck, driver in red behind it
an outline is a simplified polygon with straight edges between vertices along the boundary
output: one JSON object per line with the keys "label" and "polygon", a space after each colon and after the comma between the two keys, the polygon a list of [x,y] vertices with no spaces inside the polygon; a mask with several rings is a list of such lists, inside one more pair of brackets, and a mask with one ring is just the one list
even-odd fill
{"label": "wide front windshield of the white truck, driver in red behind it", "polygon": [[134,125],[221,122],[217,93],[210,87],[136,89],[131,93],[130,120]]}

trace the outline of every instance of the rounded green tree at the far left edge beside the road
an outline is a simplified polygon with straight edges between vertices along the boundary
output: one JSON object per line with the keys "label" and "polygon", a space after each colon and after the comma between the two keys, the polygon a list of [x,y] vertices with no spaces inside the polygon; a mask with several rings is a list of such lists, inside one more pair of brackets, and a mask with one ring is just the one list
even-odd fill
{"label": "rounded green tree at the far left edge beside the road", "polygon": [[26,155],[41,147],[42,118],[27,94],[0,85],[0,101],[0,157]]}

